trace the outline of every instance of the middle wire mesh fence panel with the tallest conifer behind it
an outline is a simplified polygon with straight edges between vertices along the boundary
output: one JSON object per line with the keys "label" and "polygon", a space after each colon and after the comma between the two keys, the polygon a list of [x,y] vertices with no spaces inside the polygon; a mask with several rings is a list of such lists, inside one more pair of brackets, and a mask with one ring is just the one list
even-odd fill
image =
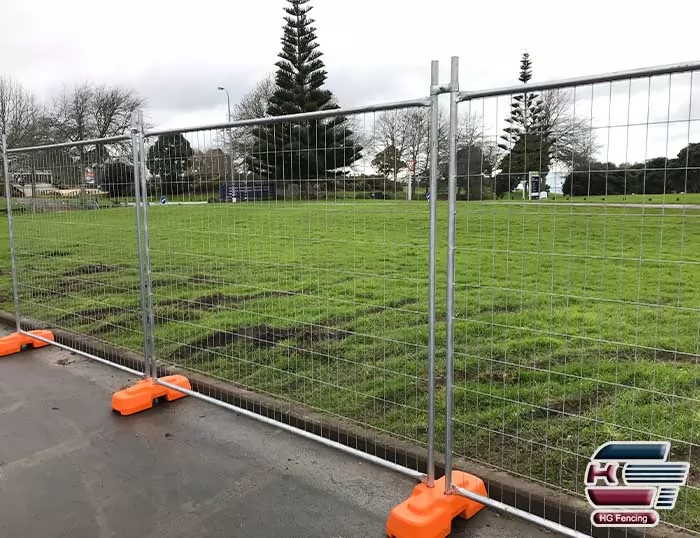
{"label": "middle wire mesh fence panel with the tallest conifer behind it", "polygon": [[146,136],[159,361],[424,444],[428,131],[411,107]]}

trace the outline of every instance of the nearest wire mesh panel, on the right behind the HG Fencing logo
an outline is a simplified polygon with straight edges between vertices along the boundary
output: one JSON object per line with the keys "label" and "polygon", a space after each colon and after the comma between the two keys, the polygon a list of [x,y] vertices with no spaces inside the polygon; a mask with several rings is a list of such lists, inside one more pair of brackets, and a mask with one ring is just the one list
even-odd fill
{"label": "nearest wire mesh panel, on the right behind the HG Fencing logo", "polygon": [[700,75],[460,113],[456,453],[582,496],[602,443],[670,441],[700,532]]}

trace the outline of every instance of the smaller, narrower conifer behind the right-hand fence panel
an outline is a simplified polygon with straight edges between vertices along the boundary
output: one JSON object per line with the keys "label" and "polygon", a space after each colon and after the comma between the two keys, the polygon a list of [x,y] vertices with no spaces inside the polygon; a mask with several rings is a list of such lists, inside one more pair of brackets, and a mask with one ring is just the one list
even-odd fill
{"label": "smaller, narrower conifer behind the right-hand fence panel", "polygon": [[[520,76],[523,84],[532,78],[532,61],[526,52],[520,60]],[[498,146],[507,153],[499,168],[501,174],[496,180],[498,194],[512,191],[518,183],[527,180],[528,172],[539,172],[544,177],[549,172],[552,129],[547,125],[545,107],[539,94],[525,91],[513,96],[508,127]]]}

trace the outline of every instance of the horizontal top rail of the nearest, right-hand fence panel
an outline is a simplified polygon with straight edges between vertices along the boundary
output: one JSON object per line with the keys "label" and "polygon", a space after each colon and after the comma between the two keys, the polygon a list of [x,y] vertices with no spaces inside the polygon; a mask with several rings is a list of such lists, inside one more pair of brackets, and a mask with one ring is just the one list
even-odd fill
{"label": "horizontal top rail of the nearest, right-hand fence panel", "polygon": [[476,90],[464,91],[459,93],[459,101],[471,101],[474,99],[484,99],[486,97],[499,97],[502,95],[511,95],[528,92],[541,92],[546,90],[556,90],[559,88],[569,88],[576,86],[588,86],[591,84],[602,84],[605,82],[616,82],[620,80],[632,80],[638,78],[646,78],[661,75],[671,75],[673,73],[685,73],[700,69],[700,61],[686,62],[679,64],[660,65],[656,67],[646,67],[643,69],[632,69],[629,71],[615,71],[612,73],[604,73],[600,75],[588,75],[583,77],[566,78],[561,80],[552,80],[548,82],[539,82],[535,84],[518,84],[515,86],[505,86],[502,88],[494,88],[491,90]]}

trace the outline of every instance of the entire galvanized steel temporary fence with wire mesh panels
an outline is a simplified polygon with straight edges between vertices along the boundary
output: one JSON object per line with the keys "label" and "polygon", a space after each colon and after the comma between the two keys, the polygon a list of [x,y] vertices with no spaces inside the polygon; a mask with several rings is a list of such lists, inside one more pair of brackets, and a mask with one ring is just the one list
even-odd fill
{"label": "entire galvanized steel temporary fence with wire mesh panels", "polygon": [[670,441],[663,525],[700,533],[700,66],[437,67],[411,101],[3,147],[18,330],[373,461],[419,447],[429,485],[437,452],[583,498],[602,443]]}

